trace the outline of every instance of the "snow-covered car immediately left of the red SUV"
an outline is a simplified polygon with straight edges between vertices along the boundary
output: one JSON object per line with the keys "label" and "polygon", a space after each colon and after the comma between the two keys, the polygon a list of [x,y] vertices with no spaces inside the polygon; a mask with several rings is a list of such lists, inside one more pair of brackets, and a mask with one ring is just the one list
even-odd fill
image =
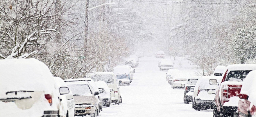
{"label": "snow-covered car immediately left of the red SUV", "polygon": [[[192,108],[195,110],[212,109],[214,96],[221,76],[202,76],[197,81],[192,96]],[[191,88],[192,89],[192,88]]]}

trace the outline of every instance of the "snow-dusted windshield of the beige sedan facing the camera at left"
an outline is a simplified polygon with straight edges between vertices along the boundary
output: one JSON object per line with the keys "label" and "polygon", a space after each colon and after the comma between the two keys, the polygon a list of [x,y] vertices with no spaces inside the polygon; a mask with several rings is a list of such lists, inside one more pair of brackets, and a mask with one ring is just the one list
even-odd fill
{"label": "snow-dusted windshield of the beige sedan facing the camera at left", "polygon": [[88,85],[68,85],[74,96],[91,95],[92,92]]}

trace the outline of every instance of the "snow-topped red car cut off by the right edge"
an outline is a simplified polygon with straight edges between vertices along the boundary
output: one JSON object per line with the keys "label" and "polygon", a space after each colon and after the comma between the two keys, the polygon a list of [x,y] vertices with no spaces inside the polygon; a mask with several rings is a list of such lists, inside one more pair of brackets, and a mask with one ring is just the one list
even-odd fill
{"label": "snow-topped red car cut off by the right edge", "polygon": [[238,115],[239,117],[256,116],[256,71],[251,71],[243,81],[239,94]]}

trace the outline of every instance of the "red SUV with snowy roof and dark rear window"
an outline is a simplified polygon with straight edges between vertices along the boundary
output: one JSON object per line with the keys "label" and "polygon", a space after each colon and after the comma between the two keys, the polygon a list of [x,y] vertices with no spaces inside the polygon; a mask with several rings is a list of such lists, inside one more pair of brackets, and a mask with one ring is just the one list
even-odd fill
{"label": "red SUV with snowy roof and dark rear window", "polygon": [[222,80],[215,94],[215,104],[213,115],[233,116],[237,115],[239,94],[243,80],[247,74],[256,70],[255,64],[236,64],[226,67],[226,72],[222,75]]}

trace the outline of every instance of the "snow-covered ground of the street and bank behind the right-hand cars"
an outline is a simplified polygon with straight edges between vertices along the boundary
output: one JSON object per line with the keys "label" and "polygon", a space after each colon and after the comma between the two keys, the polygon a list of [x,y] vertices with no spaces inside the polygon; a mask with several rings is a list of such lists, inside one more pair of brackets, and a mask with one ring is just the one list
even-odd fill
{"label": "snow-covered ground of the street and bank behind the right-hand cars", "polygon": [[[140,58],[140,65],[130,86],[121,86],[123,103],[103,108],[100,117],[212,117],[212,110],[196,111],[192,103],[183,103],[183,89],[172,89],[166,81],[166,71],[159,71],[161,58]],[[179,60],[175,69],[195,76],[195,66]]]}

